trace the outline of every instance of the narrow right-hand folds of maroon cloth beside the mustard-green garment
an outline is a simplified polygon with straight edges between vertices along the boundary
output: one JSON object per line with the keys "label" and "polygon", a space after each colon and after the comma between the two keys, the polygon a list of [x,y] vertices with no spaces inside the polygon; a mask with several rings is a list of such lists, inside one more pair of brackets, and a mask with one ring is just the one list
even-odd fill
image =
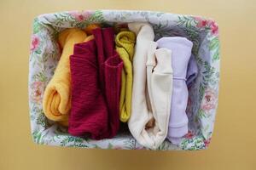
{"label": "narrow right-hand folds of maroon cloth beside the mustard-green garment", "polygon": [[[123,61],[114,49],[113,27],[96,28],[92,34],[96,38],[97,58],[102,68],[99,79],[102,80],[102,91],[108,104],[108,134],[106,136],[112,138],[119,130],[119,95]],[[105,59],[103,63],[102,59]]]}

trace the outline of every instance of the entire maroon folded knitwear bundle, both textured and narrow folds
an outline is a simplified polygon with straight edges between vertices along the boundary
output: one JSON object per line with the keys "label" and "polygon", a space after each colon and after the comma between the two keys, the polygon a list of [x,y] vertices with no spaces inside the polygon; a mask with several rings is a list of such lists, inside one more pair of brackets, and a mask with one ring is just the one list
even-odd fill
{"label": "entire maroon folded knitwear bundle, both textured and narrow folds", "polygon": [[78,43],[70,57],[72,102],[68,132],[91,139],[113,138],[119,130],[123,61],[114,50],[113,28],[97,28],[94,40]]}

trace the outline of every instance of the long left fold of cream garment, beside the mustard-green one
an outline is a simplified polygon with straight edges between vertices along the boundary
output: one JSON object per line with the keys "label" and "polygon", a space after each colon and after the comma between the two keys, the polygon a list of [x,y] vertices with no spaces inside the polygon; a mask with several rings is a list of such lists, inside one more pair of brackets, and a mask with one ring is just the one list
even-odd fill
{"label": "long left fold of cream garment, beside the mustard-green one", "polygon": [[154,31],[147,23],[130,23],[128,27],[137,34],[136,50],[133,57],[133,84],[131,97],[131,117],[128,127],[132,136],[139,144],[146,147],[154,146],[154,141],[146,131],[147,122],[153,117],[148,112],[146,96],[146,62],[149,43],[154,41]]}

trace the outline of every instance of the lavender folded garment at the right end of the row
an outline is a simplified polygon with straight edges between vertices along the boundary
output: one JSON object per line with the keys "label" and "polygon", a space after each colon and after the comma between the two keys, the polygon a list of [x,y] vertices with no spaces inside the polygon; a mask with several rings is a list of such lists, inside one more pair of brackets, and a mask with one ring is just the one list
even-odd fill
{"label": "lavender folded garment at the right end of the row", "polygon": [[172,104],[167,139],[178,144],[180,138],[188,133],[186,107],[189,92],[186,77],[193,43],[185,37],[162,37],[157,43],[158,48],[172,50]]}

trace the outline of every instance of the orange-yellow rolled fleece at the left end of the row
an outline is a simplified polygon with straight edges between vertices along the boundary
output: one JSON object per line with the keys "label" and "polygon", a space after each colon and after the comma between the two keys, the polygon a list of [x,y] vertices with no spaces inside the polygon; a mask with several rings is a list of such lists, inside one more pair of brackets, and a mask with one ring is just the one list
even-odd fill
{"label": "orange-yellow rolled fleece at the left end of the row", "polygon": [[71,75],[69,56],[73,54],[75,43],[83,42],[86,37],[84,31],[70,28],[61,31],[59,43],[62,48],[61,59],[55,69],[55,74],[44,91],[43,110],[50,120],[68,125],[68,114],[71,107]]}

